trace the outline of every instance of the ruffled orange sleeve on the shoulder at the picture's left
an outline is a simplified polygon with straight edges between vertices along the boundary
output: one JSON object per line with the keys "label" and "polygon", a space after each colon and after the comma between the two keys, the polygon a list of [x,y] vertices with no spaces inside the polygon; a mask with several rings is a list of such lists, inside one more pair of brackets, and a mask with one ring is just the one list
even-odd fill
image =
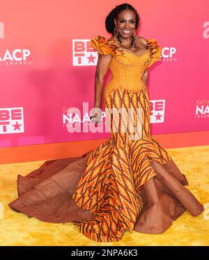
{"label": "ruffled orange sleeve on the shoulder at the picture's left", "polygon": [[105,38],[104,36],[96,36],[90,40],[91,46],[97,50],[100,54],[111,54],[112,56],[123,54],[121,48],[116,45],[114,40]]}

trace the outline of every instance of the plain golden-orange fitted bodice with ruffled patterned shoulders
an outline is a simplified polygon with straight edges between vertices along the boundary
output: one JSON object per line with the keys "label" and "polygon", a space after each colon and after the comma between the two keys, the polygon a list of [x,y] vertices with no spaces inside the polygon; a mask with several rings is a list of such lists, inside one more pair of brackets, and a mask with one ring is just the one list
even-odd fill
{"label": "plain golden-orange fitted bodice with ruffled patterned shoulders", "polygon": [[148,49],[141,55],[128,49],[122,49],[114,40],[106,39],[104,36],[96,36],[91,39],[91,46],[100,54],[111,54],[112,56],[109,64],[111,79],[104,89],[104,98],[107,98],[109,93],[117,88],[132,91],[141,91],[146,88],[141,77],[146,68],[158,61],[162,50],[153,38],[148,39]]}

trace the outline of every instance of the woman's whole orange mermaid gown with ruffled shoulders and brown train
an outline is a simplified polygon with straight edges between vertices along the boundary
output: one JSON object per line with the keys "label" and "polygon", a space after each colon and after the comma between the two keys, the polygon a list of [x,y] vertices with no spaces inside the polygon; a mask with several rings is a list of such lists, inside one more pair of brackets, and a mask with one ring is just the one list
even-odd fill
{"label": "woman's whole orange mermaid gown with ruffled shoulders and brown train", "polygon": [[[111,138],[95,150],[49,160],[27,176],[19,175],[18,198],[10,208],[45,222],[72,222],[98,242],[121,240],[125,231],[160,234],[185,210],[199,215],[203,206],[184,187],[185,175],[150,135],[150,103],[141,77],[162,48],[153,38],[140,56],[104,36],[91,39],[91,45],[112,56],[104,104],[107,112],[122,109],[122,116],[108,114]],[[123,131],[129,119],[132,127]]]}

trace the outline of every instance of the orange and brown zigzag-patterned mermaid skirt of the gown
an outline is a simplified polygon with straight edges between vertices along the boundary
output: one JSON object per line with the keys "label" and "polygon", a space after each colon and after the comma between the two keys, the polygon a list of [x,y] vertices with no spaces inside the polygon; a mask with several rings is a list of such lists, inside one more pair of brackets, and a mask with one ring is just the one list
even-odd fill
{"label": "orange and brown zigzag-patterned mermaid skirt of the gown", "polygon": [[[146,90],[116,89],[105,102],[105,109],[113,108],[126,111],[132,108],[134,126],[137,125],[137,108],[140,108],[141,138],[130,139],[132,132],[121,132],[127,113],[121,118],[116,116],[117,119],[109,114],[111,138],[86,155],[87,166],[72,199],[77,206],[90,210],[92,217],[89,221],[73,223],[82,234],[98,242],[118,241],[125,230],[132,232],[143,208],[139,190],[156,176],[150,160],[163,165],[171,159],[171,155],[150,136],[150,105]],[[116,124],[118,132],[113,131]]]}

